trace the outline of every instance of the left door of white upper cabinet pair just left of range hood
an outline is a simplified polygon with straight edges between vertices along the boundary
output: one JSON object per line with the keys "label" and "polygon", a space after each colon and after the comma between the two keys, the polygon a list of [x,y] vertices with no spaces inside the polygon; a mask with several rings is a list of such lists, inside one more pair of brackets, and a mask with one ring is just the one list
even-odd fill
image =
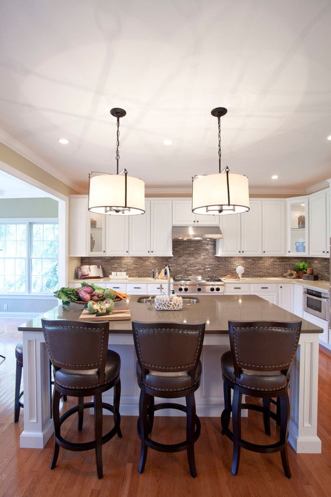
{"label": "left door of white upper cabinet pair just left of range hood", "polygon": [[144,214],[130,216],[129,254],[130,256],[150,255],[150,200],[145,200]]}

